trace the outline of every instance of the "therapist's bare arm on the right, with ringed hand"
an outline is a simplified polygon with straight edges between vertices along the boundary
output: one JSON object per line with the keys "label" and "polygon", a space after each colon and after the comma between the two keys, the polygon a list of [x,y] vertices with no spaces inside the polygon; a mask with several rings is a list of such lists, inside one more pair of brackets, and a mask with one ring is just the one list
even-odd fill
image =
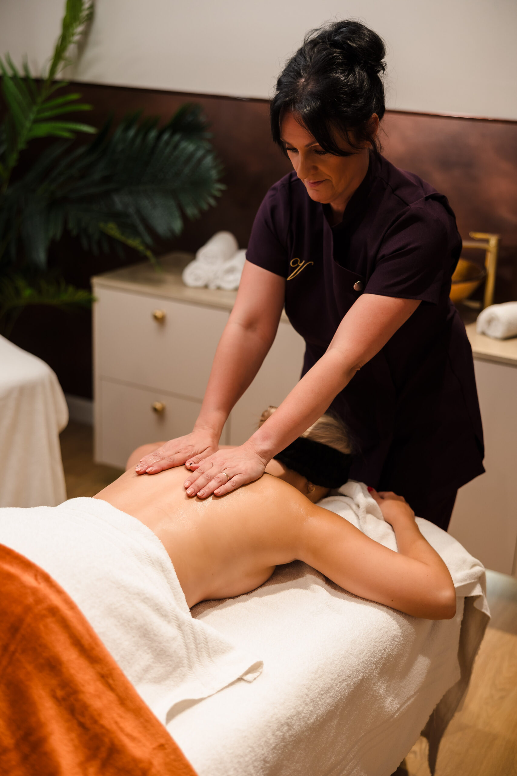
{"label": "therapist's bare arm on the right, with ringed hand", "polygon": [[[411,317],[419,303],[368,293],[360,296],[343,317],[326,353],[277,411],[239,448],[219,451],[204,459],[185,483],[188,495],[219,496],[255,479],[259,462],[265,466],[312,425],[361,366]],[[228,482],[222,472],[229,475]]]}

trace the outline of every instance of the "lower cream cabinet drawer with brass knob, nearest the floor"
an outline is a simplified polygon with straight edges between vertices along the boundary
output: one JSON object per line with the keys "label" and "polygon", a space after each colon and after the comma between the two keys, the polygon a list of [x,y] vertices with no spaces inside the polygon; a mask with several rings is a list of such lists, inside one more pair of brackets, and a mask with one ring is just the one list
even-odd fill
{"label": "lower cream cabinet drawer with brass knob, nearest the floor", "polygon": [[[164,409],[153,411],[153,403]],[[95,460],[123,469],[146,442],[163,442],[192,430],[201,402],[99,380],[95,397]]]}

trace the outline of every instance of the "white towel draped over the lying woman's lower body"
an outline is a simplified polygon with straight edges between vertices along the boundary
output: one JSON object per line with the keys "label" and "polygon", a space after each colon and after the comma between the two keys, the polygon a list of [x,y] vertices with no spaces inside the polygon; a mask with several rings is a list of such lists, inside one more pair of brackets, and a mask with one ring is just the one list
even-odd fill
{"label": "white towel draped over the lying woman's lower body", "polygon": [[261,661],[191,617],[157,536],[106,501],[0,509],[0,542],[64,587],[161,722],[178,703],[260,674]]}

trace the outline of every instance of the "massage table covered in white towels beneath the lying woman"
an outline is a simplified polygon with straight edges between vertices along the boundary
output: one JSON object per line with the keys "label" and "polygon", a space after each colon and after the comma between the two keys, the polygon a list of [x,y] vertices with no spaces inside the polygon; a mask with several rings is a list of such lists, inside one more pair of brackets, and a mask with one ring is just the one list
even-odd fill
{"label": "massage table covered in white towels beneath the lying woman", "polygon": [[[396,549],[360,483],[320,503]],[[190,613],[163,546],[135,518],[95,499],[0,510],[0,542],[71,595],[198,776],[389,776],[422,730],[433,772],[489,614],[481,563],[419,527],[450,568],[450,620],[357,598],[301,562]]]}

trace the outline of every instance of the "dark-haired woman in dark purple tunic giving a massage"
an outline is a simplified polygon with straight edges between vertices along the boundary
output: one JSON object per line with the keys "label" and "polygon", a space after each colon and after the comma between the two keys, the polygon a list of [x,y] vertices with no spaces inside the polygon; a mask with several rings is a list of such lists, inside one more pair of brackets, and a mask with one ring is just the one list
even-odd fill
{"label": "dark-haired woman in dark purple tunic giving a massage", "polygon": [[[271,130],[294,170],[257,213],[194,430],[138,473],[186,463],[189,496],[226,494],[329,407],[355,443],[350,476],[442,528],[484,471],[472,353],[449,300],[460,235],[446,197],[379,153],[384,54],[371,29],[341,21],[309,33],[278,78]],[[305,339],[302,379],[247,442],[218,450],[283,307]]]}

